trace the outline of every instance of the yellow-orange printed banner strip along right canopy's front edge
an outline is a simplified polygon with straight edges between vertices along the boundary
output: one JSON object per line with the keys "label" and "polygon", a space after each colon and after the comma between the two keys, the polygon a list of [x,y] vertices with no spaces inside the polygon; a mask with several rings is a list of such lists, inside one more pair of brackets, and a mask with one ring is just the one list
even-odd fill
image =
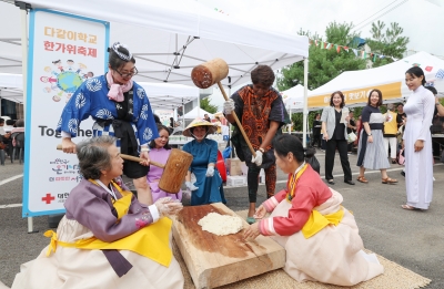
{"label": "yellow-orange printed banner strip along right canopy's front edge", "polygon": [[[369,100],[369,93],[374,89],[377,89],[382,92],[384,101],[400,97],[402,95],[401,94],[401,84],[402,84],[401,82],[394,82],[394,83],[389,83],[389,84],[381,84],[381,85],[374,85],[374,86],[369,86],[369,87],[342,91],[342,93],[345,96],[346,105],[352,105],[352,104],[356,104],[356,103],[365,104]],[[310,96],[309,97],[309,107],[329,106],[330,97],[331,97],[331,94]]]}

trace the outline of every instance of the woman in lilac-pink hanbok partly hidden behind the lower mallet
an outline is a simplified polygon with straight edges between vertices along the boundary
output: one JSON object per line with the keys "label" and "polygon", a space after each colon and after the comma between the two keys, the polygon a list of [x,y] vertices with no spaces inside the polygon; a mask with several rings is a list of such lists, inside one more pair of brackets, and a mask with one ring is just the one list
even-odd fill
{"label": "woman in lilac-pink hanbok partly hidden behind the lower mallet", "polygon": [[[158,124],[159,137],[151,141],[150,143],[150,159],[158,162],[160,164],[167,164],[168,158],[171,154],[171,147],[168,144],[170,138],[170,131],[167,126]],[[157,166],[150,166],[150,172],[148,172],[147,180],[148,185],[151,187],[151,194],[153,202],[163,198],[171,197],[172,199],[182,200],[182,189],[178,194],[169,194],[159,188],[159,180],[163,174],[163,168]]]}

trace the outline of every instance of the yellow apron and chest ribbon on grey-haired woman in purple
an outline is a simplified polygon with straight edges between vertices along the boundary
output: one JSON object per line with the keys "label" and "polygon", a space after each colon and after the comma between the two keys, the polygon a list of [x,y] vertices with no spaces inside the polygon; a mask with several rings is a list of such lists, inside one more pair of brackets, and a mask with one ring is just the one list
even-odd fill
{"label": "yellow apron and chest ribbon on grey-haired woman in purple", "polygon": [[[90,182],[98,185],[92,179],[90,179]],[[113,207],[118,211],[118,221],[120,221],[120,219],[128,214],[131,205],[132,193],[122,190],[113,182],[112,184],[123,196],[113,203]],[[159,262],[160,265],[169,267],[172,260],[172,251],[169,239],[171,225],[171,219],[162,217],[157,223],[150,224],[147,227],[143,227],[140,230],[112,242],[102,241],[95,237],[78,240],[75,242],[64,242],[57,239],[57,233],[53,230],[47,230],[44,236],[51,238],[47,256],[50,256],[52,251],[56,251],[57,246],[85,250],[117,249],[137,252],[150,258],[155,262]]]}

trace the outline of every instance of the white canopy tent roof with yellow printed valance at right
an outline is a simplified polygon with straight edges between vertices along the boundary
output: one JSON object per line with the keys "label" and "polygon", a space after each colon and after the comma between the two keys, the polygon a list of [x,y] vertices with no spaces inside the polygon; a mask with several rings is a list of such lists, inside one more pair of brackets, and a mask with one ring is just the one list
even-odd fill
{"label": "white canopy tent roof with yellow printed valance at right", "polygon": [[405,72],[414,65],[423,69],[425,80],[433,83],[440,96],[444,96],[444,60],[418,52],[384,66],[341,73],[309,93],[309,107],[329,105],[335,91],[344,93],[347,106],[362,106],[373,89],[381,90],[384,103],[403,101],[411,94],[405,85]]}

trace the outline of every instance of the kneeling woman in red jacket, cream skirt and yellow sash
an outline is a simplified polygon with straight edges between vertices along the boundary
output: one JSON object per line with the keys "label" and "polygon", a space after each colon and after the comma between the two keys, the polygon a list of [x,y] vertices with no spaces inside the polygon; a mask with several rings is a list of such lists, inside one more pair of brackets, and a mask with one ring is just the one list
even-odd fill
{"label": "kneeling woman in red jacket, cream skirt and yellow sash", "polygon": [[[314,155],[293,135],[273,142],[276,165],[289,174],[286,188],[265,200],[245,229],[246,240],[270,236],[286,251],[284,270],[295,280],[353,286],[381,275],[376,256],[369,259],[353,215],[340,193],[329,188],[305,163]],[[265,217],[271,213],[270,217]]]}

